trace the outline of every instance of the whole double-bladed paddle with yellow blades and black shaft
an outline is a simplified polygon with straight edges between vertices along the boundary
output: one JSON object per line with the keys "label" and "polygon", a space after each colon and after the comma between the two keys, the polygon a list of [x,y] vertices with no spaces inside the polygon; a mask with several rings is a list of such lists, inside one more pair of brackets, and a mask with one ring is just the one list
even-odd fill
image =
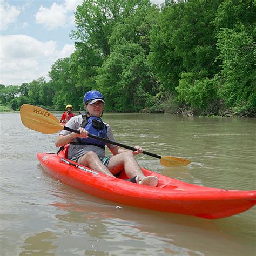
{"label": "whole double-bladed paddle with yellow blades and black shaft", "polygon": [[[29,104],[24,104],[21,106],[20,110],[21,120],[24,126],[28,127],[29,129],[44,133],[44,134],[53,134],[58,132],[59,130],[66,130],[70,132],[75,132],[79,134],[79,131],[73,130],[69,127],[63,126],[59,123],[57,117],[53,116],[52,113],[49,111],[42,109],[38,106],[33,106]],[[120,147],[124,147],[125,149],[129,149],[132,151],[136,151],[134,147],[126,146],[121,143],[113,142],[108,139],[100,138],[93,134],[89,134],[89,137],[101,140],[106,143],[110,143],[113,145],[117,145]],[[143,154],[147,154],[151,157],[156,157],[160,159],[160,163],[164,166],[185,166],[191,163],[190,160],[179,158],[179,157],[161,157],[157,154],[153,154],[150,152],[146,152],[143,150]]]}

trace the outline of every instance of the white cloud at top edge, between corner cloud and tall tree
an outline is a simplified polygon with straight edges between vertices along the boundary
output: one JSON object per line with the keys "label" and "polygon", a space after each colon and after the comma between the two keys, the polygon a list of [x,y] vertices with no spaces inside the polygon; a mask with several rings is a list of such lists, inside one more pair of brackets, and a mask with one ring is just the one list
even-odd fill
{"label": "white cloud at top edge, between corner cloud and tall tree", "polygon": [[73,13],[82,2],[83,0],[66,0],[63,5],[53,3],[50,8],[41,5],[35,14],[36,23],[43,24],[49,30],[73,24]]}

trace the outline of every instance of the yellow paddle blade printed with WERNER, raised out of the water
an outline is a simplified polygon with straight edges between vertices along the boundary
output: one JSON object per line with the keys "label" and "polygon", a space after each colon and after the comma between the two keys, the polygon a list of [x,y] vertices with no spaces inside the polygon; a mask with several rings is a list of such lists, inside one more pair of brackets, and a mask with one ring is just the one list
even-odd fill
{"label": "yellow paddle blade printed with WERNER, raised out of the water", "polygon": [[44,134],[56,133],[64,127],[57,117],[41,107],[24,104],[19,114],[24,126]]}

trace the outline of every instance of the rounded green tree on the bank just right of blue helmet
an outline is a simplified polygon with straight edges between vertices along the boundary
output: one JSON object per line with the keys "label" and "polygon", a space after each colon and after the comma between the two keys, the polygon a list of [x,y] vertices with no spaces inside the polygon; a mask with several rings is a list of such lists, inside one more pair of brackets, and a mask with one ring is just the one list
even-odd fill
{"label": "rounded green tree on the bank just right of blue helmet", "polygon": [[107,111],[138,112],[156,93],[145,52],[134,43],[116,46],[99,69],[97,85]]}

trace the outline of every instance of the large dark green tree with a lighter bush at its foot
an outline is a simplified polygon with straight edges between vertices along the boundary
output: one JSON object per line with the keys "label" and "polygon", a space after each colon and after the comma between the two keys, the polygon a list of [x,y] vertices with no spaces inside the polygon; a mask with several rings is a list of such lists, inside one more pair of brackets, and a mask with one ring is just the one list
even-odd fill
{"label": "large dark green tree with a lighter bush at its foot", "polygon": [[221,2],[166,2],[151,31],[153,72],[164,90],[197,113],[216,111],[218,102],[218,87],[211,79],[219,71],[214,19]]}

